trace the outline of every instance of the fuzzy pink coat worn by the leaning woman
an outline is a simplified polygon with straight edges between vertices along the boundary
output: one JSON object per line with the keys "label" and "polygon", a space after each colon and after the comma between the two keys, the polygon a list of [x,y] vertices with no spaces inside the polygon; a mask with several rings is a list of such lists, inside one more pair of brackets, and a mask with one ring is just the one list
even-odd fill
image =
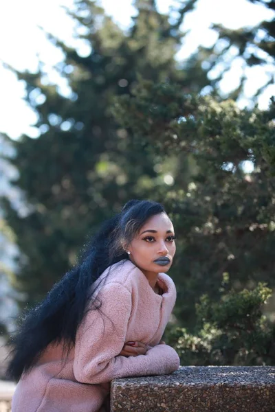
{"label": "fuzzy pink coat worn by the leaning woman", "polygon": [[[165,273],[159,273],[157,283],[163,295],[154,292],[131,261],[112,265],[98,295],[104,315],[88,312],[67,359],[63,345],[46,348],[35,367],[19,380],[12,412],[103,412],[112,379],[177,370],[177,352],[159,345],[175,305],[175,284]],[[142,341],[149,349],[145,355],[120,356],[126,341]]]}

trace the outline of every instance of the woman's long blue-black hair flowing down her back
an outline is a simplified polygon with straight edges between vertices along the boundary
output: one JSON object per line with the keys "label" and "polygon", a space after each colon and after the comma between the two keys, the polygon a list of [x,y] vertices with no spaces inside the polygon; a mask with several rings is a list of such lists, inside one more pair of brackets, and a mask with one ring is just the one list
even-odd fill
{"label": "woman's long blue-black hair flowing down her back", "polygon": [[50,343],[63,342],[69,353],[87,304],[89,310],[101,306],[100,301],[93,299],[97,288],[87,293],[90,286],[109,266],[129,259],[126,247],[148,218],[162,212],[165,213],[164,207],[157,202],[132,200],[102,224],[80,251],[76,266],[53,286],[41,304],[21,317],[17,332],[10,337],[8,378],[19,380]]}

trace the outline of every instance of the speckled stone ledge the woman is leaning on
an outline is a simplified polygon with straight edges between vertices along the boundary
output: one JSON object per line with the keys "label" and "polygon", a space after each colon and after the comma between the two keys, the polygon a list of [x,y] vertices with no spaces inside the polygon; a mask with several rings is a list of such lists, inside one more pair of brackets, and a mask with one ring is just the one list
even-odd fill
{"label": "speckled stone ledge the woman is leaning on", "polygon": [[275,412],[275,367],[188,366],[111,383],[111,412]]}

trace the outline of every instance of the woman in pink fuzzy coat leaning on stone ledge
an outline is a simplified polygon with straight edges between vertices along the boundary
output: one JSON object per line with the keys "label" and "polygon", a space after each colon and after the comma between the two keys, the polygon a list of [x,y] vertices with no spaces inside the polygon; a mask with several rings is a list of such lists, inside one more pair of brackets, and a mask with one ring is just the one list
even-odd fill
{"label": "woman in pink fuzzy coat leaning on stone ledge", "polygon": [[12,412],[107,411],[112,379],[177,370],[177,352],[161,341],[176,299],[163,273],[174,255],[159,203],[129,201],[104,222],[12,341]]}

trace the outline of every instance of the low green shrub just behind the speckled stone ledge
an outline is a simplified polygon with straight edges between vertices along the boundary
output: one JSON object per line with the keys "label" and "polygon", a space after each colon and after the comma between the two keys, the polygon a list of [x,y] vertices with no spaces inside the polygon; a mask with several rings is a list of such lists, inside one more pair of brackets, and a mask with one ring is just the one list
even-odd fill
{"label": "low green shrub just behind the speckled stone ledge", "polygon": [[203,295],[194,334],[169,325],[165,341],[181,365],[275,365],[275,325],[263,315],[271,295],[261,283],[254,290],[230,290],[218,302]]}

